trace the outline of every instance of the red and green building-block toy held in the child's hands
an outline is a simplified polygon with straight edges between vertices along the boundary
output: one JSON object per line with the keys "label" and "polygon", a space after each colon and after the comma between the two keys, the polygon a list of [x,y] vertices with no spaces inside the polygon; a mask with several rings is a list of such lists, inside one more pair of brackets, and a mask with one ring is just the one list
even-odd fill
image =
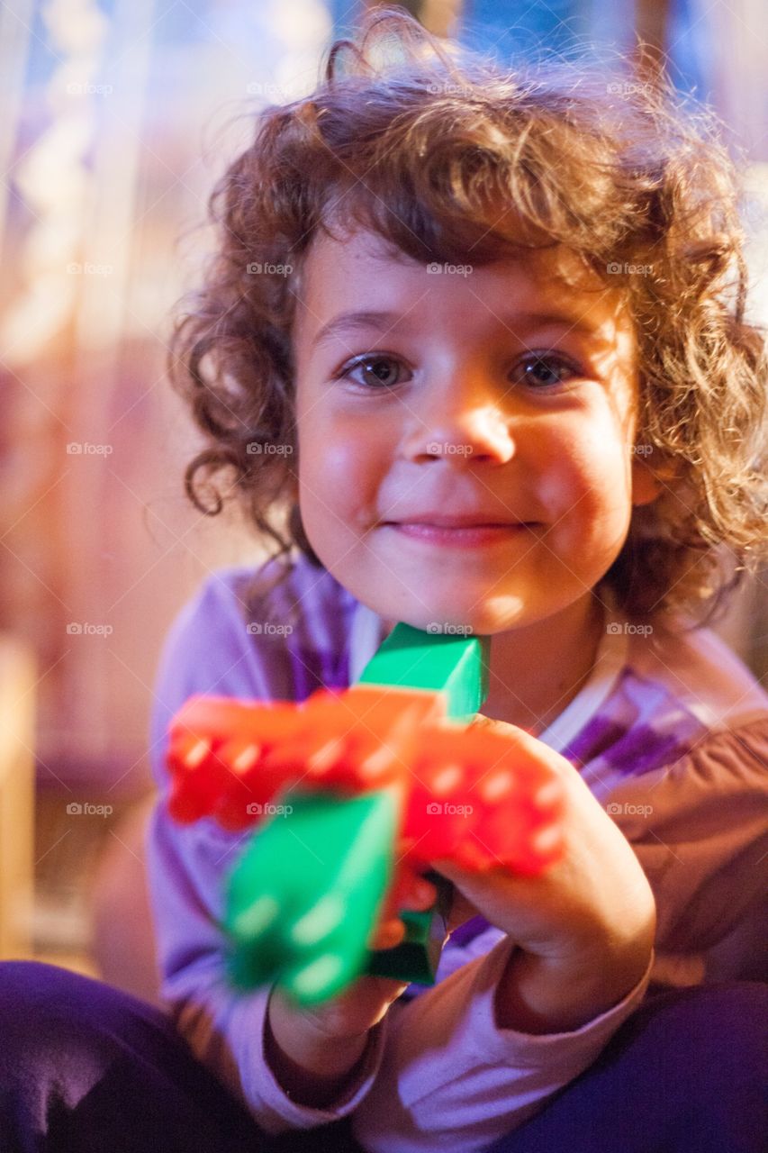
{"label": "red and green building-block toy held in the child's hands", "polygon": [[[468,723],[488,694],[490,639],[399,624],[341,692],[306,702],[194,696],[172,722],[171,815],[256,831],[227,881],[223,929],[242,989],[300,1004],[362,973],[434,984],[452,887],[429,862],[534,875],[560,844],[560,786],[505,734]],[[400,910],[413,880],[438,888]],[[404,941],[371,951],[382,918]]]}

